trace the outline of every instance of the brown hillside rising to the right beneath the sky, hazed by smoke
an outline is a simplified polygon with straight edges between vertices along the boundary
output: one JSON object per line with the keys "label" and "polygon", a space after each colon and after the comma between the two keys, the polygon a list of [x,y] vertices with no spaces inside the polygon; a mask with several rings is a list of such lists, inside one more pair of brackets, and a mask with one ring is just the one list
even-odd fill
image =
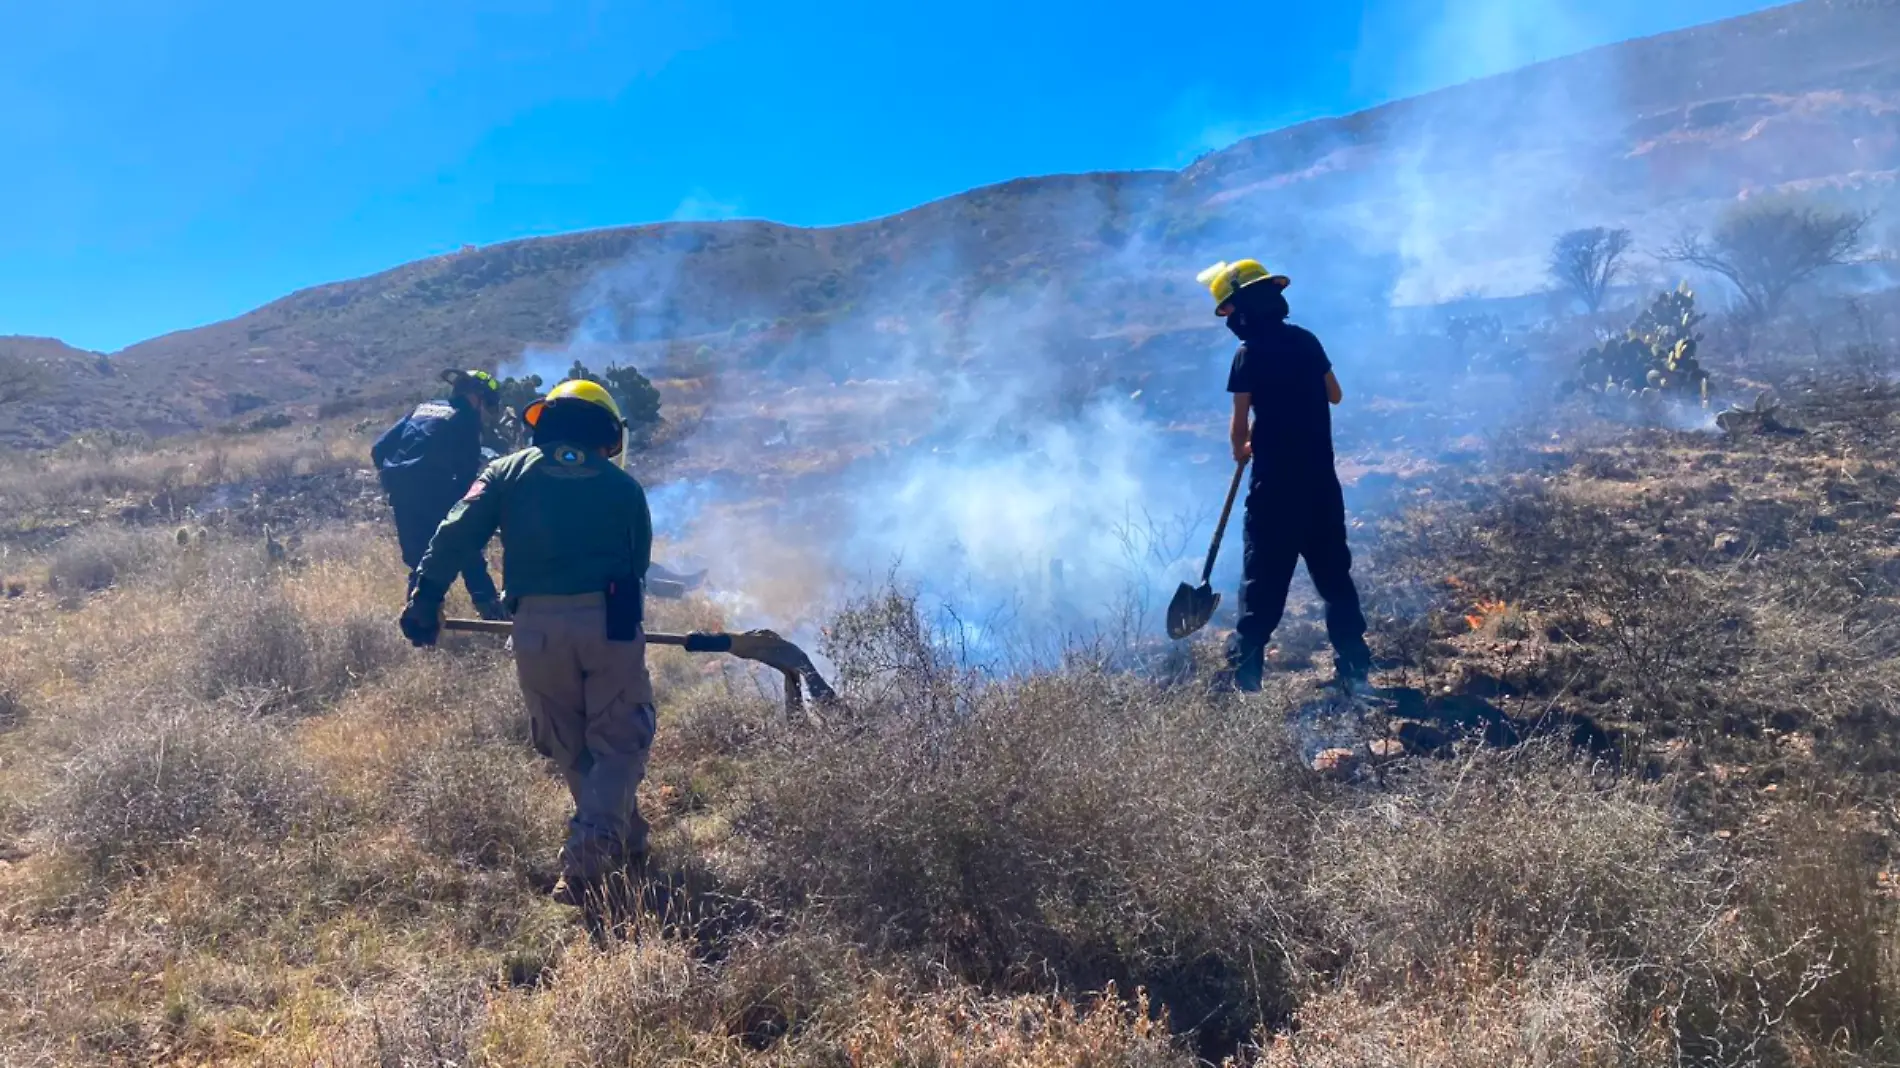
{"label": "brown hillside rising to the right beneath the sky, hazed by smoke", "polygon": [[445,365],[568,346],[674,378],[688,409],[733,399],[707,382],[732,369],[775,386],[971,371],[1020,361],[1024,342],[1167,365],[1205,348],[1191,274],[1210,258],[1275,258],[1307,317],[1355,323],[1393,300],[1539,289],[1568,226],[1655,243],[1761,188],[1892,203],[1896,175],[1900,19],[1811,0],[1254,137],[1180,173],[1024,179],[828,230],[684,222],[469,247],[114,353],[137,403],[78,424],[53,405],[101,369],[48,355],[57,386],[0,412],[0,441],[384,409]]}

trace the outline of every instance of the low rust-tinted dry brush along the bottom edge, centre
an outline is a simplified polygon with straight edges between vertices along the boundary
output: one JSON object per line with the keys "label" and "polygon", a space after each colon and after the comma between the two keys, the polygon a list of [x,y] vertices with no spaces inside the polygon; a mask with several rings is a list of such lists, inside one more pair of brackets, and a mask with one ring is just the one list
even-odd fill
{"label": "low rust-tinted dry brush along the bottom edge, centre", "polygon": [[1161,1068],[1193,1064],[1146,1005],[1077,1007],[878,973],[819,935],[743,946],[722,967],[671,943],[576,954],[542,992],[496,1007],[486,1051],[507,1064],[821,1068]]}

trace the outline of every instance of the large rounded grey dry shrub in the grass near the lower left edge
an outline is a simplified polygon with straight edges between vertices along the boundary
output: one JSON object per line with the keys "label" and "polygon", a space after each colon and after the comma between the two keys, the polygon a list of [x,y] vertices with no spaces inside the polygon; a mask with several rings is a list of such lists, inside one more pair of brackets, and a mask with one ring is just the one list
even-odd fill
{"label": "large rounded grey dry shrub in the grass near the lower left edge", "polygon": [[42,806],[91,870],[142,870],[194,848],[277,840],[321,811],[321,785],[268,724],[179,703],[95,711],[93,735]]}

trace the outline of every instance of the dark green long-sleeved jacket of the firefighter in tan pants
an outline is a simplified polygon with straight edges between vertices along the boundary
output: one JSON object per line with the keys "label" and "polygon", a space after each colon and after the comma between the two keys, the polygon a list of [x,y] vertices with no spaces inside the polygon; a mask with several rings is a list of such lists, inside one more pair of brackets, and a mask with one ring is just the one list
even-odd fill
{"label": "dark green long-sleeved jacket of the firefighter in tan pants", "polygon": [[502,532],[502,587],[509,599],[600,593],[640,576],[654,555],[646,490],[597,452],[534,445],[475,479],[435,530],[416,568],[446,587]]}

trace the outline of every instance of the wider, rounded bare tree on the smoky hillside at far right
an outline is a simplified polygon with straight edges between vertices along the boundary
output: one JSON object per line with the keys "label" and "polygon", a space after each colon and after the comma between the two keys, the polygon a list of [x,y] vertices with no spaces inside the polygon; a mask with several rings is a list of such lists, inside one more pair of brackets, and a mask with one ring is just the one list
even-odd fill
{"label": "wider, rounded bare tree on the smoky hillside at far right", "polygon": [[1737,205],[1706,239],[1689,230],[1662,258],[1720,274],[1742,295],[1754,319],[1773,317],[1788,293],[1822,270],[1845,264],[1873,217],[1797,201]]}

